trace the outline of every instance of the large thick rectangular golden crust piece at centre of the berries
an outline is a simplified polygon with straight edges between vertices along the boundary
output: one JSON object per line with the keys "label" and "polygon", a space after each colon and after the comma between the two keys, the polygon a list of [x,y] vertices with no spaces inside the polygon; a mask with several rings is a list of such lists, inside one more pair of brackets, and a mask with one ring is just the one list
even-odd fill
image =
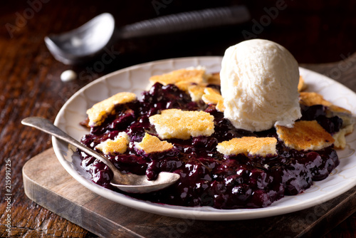
{"label": "large thick rectangular golden crust piece at centre of the berries", "polygon": [[161,139],[187,140],[214,133],[214,116],[203,111],[167,109],[162,110],[161,114],[152,115],[149,120],[155,125]]}

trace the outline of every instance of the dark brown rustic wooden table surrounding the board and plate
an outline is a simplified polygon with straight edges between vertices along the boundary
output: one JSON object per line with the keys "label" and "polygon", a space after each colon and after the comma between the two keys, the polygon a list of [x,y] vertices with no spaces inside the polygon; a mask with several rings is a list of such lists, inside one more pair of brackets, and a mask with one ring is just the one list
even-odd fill
{"label": "dark brown rustic wooden table surrounding the board and plate", "polygon": [[[96,78],[137,63],[182,56],[224,54],[224,49],[248,36],[268,38],[286,46],[305,68],[334,78],[356,90],[355,2],[248,1],[251,21],[210,31],[120,41],[105,67],[95,62],[66,66],[56,61],[43,42],[48,33],[68,31],[102,12],[115,16],[118,26],[165,14],[229,6],[243,1],[4,1],[0,8],[0,236],[96,237],[53,212],[36,205],[23,191],[21,170],[34,155],[51,148],[51,138],[21,125],[31,115],[54,120],[75,91]],[[244,34],[244,33],[245,34]],[[118,53],[120,52],[120,53]],[[346,59],[348,58],[348,59]],[[337,63],[329,63],[337,62]],[[76,81],[62,82],[72,69]],[[11,165],[11,166],[10,166]],[[8,167],[6,174],[6,167]],[[11,170],[9,170],[9,167]],[[7,176],[7,177],[6,177]],[[10,180],[10,181],[7,181]],[[6,183],[11,187],[6,187]],[[9,189],[9,190],[6,190]],[[8,218],[10,217],[10,218]],[[7,220],[6,220],[7,219]],[[343,219],[343,218],[342,218]],[[356,214],[334,219],[325,237],[355,237]],[[10,221],[10,222],[8,222]],[[337,223],[340,223],[336,226]],[[6,226],[10,224],[10,228]],[[322,236],[324,234],[320,234]]]}

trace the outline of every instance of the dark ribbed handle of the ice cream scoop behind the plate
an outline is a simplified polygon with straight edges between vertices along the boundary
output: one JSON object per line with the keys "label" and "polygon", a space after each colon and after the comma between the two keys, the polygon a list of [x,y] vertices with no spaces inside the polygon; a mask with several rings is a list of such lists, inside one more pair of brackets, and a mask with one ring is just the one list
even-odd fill
{"label": "dark ribbed handle of the ice cream scoop behind the plate", "polygon": [[204,9],[139,21],[135,24],[122,27],[118,33],[120,34],[120,38],[152,36],[178,31],[204,29],[211,26],[239,24],[248,21],[250,17],[246,6]]}

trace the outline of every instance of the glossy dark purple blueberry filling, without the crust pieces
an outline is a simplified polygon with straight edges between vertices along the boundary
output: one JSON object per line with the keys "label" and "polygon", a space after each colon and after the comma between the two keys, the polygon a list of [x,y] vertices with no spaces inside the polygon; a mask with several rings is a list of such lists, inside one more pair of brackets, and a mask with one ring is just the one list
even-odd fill
{"label": "glossy dark purple blueberry filling, without the crust pieces", "polygon": [[[219,89],[219,86],[214,88]],[[148,118],[168,108],[204,110],[214,115],[214,133],[209,137],[189,140],[167,140],[174,144],[174,149],[167,152],[147,155],[137,150],[134,142],[140,142],[145,133],[157,136]],[[337,116],[327,118],[323,105],[301,105],[301,111],[301,120],[317,120],[332,134],[340,130],[342,120]],[[155,83],[150,90],[142,93],[141,100],[117,105],[115,112],[102,125],[91,128],[81,142],[96,150],[95,146],[99,143],[125,131],[131,140],[125,154],[106,155],[120,171],[147,175],[151,180],[161,171],[175,172],[181,176],[176,184],[167,189],[130,195],[140,200],[217,209],[268,207],[286,195],[303,192],[313,181],[325,179],[339,164],[332,146],[318,151],[298,151],[287,148],[280,140],[277,143],[277,156],[248,157],[239,154],[224,157],[216,150],[218,143],[243,136],[278,138],[276,130],[252,133],[236,129],[214,105],[192,102],[187,93],[174,85]],[[82,167],[90,173],[93,182],[115,190],[110,186],[112,172],[107,166],[84,152],[80,152],[80,157]]]}

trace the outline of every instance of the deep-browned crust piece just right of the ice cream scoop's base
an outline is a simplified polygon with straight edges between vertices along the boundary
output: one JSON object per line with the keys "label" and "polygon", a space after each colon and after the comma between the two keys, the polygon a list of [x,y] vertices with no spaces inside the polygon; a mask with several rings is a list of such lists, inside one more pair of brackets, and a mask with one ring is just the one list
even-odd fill
{"label": "deep-browned crust piece just right of the ice cream scoop's base", "polygon": [[321,150],[335,142],[316,120],[299,120],[293,128],[276,125],[278,138],[295,150]]}

